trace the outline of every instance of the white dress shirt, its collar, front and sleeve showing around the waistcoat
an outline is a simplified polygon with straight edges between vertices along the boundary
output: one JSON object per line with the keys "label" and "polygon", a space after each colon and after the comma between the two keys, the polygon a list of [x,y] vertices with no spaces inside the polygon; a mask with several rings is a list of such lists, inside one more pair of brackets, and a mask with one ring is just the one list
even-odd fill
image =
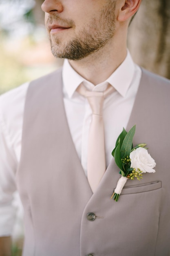
{"label": "white dress shirt, its collar, front and sleeve showing around the waistcoat", "polygon": [[[77,74],[64,61],[63,71],[64,106],[68,126],[79,159],[86,173],[88,130],[91,122],[91,107],[86,98],[76,92],[80,83],[93,91],[103,91],[108,83],[116,91],[104,101],[106,165],[112,159],[115,141],[126,128],[141,79],[141,69],[133,63],[128,52],[125,60],[103,83],[94,86]],[[29,83],[0,96],[0,236],[11,235],[15,221],[13,192],[16,191],[15,172],[21,153],[24,102]]]}

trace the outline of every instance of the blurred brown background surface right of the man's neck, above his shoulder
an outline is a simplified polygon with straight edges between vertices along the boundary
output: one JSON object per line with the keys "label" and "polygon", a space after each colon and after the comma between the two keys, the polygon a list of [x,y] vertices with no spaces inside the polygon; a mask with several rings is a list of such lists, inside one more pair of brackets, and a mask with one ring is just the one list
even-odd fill
{"label": "blurred brown background surface right of the man's neck, above his shoulder", "polygon": [[170,0],[143,0],[129,27],[136,63],[170,79]]}

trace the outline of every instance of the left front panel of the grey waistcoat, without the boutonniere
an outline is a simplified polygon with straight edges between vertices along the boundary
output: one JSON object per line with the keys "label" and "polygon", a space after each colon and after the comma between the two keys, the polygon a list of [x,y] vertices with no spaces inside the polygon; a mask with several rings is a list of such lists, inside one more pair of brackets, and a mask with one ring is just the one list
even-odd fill
{"label": "left front panel of the grey waistcoat, without the boutonniere", "polygon": [[[92,191],[68,128],[61,71],[29,85],[16,180],[25,214],[24,256],[33,255],[35,240],[36,255],[55,256],[56,248],[58,255],[70,255],[73,247],[78,256],[79,225]],[[46,230],[48,238],[42,236]]]}

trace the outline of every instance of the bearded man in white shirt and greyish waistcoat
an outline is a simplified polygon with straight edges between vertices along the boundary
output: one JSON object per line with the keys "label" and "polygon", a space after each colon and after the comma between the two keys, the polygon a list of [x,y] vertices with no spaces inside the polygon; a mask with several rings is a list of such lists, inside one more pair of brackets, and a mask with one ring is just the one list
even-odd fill
{"label": "bearded man in white shirt and greyish waistcoat", "polygon": [[[24,206],[23,256],[170,255],[170,82],[141,70],[127,52],[128,25],[140,3],[42,4],[53,55],[68,61],[62,71],[0,101],[1,243],[9,244],[17,188]],[[95,186],[95,179],[87,180],[92,109],[82,84],[97,95],[114,88],[103,100],[107,169]],[[128,180],[115,202],[110,197],[120,174],[111,152],[123,127],[135,124],[134,145],[147,143],[156,172]]]}

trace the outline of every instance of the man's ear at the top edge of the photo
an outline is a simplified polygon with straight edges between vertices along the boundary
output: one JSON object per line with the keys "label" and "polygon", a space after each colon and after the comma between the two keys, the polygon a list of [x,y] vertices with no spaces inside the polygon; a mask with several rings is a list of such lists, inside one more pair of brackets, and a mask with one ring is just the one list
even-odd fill
{"label": "man's ear at the top edge of the photo", "polygon": [[121,8],[119,9],[119,13],[117,16],[117,20],[123,22],[132,17],[141,4],[142,0],[124,0],[122,1]]}

